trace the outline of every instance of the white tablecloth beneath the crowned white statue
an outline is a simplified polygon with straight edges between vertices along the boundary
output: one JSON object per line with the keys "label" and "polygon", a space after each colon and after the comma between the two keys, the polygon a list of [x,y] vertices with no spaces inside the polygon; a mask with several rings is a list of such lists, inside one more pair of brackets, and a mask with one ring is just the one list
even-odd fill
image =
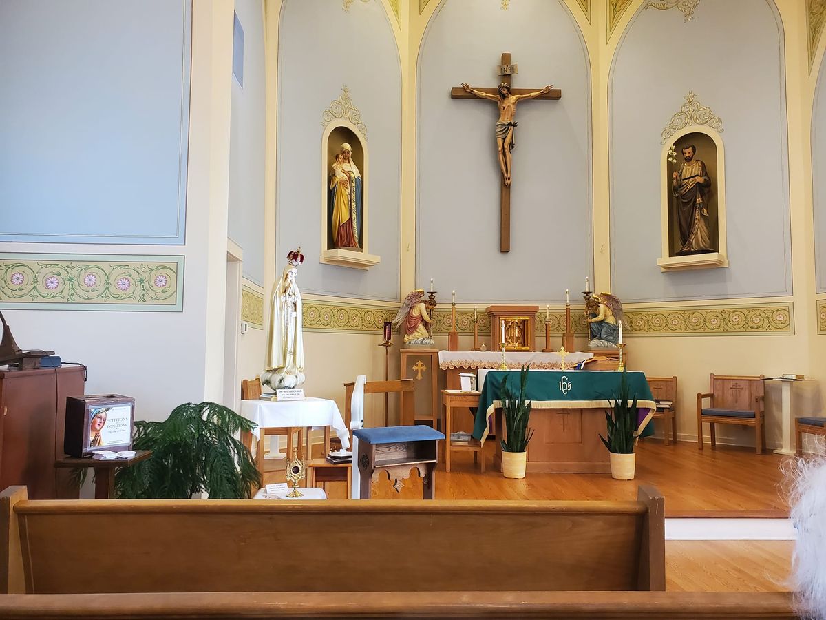
{"label": "white tablecloth beneath the crowned white statue", "polygon": [[[304,400],[242,400],[241,415],[252,420],[259,427],[331,427],[341,440],[344,450],[349,450],[350,436],[344,426],[335,400],[328,398],[305,398]],[[253,435],[259,438],[255,427]]]}

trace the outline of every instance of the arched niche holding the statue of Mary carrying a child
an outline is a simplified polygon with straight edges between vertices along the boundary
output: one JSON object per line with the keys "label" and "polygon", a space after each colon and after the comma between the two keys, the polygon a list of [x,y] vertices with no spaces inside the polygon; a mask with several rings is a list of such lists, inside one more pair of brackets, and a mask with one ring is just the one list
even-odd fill
{"label": "arched niche holding the statue of Mary carrying a child", "polygon": [[[343,145],[351,147],[349,155],[354,166],[337,160]],[[381,257],[368,253],[369,244],[369,155],[367,140],[358,127],[346,120],[331,122],[321,139],[321,258],[322,263],[369,269],[381,262]],[[344,167],[342,166],[344,164]],[[346,169],[349,168],[348,174]],[[358,170],[358,174],[355,174]],[[336,183],[337,178],[355,179],[351,192]],[[351,184],[353,185],[353,184]],[[352,236],[345,238],[340,227],[348,227]],[[338,232],[338,234],[336,234]],[[352,245],[355,243],[355,245]]]}

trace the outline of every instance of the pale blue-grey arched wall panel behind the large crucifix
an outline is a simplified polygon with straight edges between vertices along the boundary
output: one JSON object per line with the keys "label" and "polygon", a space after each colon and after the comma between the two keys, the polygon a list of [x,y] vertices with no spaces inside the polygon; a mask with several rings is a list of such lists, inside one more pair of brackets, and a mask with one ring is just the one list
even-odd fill
{"label": "pale blue-grey arched wall panel behind the large crucifix", "polygon": [[[447,0],[437,11],[418,66],[417,284],[432,277],[443,298],[456,289],[462,302],[564,303],[591,273],[591,79],[576,21],[558,0],[507,11]],[[563,91],[519,104],[508,254],[499,251],[496,105],[450,98],[462,82],[495,87],[502,52],[519,67],[516,88]]]}

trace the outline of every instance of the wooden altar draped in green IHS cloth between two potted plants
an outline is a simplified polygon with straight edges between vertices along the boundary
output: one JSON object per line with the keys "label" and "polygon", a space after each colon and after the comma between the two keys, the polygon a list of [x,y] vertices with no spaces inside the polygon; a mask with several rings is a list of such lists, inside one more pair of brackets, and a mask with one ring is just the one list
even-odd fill
{"label": "wooden altar draped in green IHS cloth between two potted plants", "polygon": [[[497,429],[504,428],[501,413],[501,384],[516,387],[519,374],[494,370],[484,374],[473,437],[484,442],[492,417]],[[482,378],[480,378],[482,379]],[[610,457],[600,435],[605,436],[605,410],[619,391],[622,374],[600,370],[530,371],[525,386],[531,401],[529,427],[534,436],[528,444],[529,472],[610,472]],[[631,398],[637,398],[637,432],[653,434],[648,426],[656,404],[645,374],[629,372]],[[481,382],[481,380],[480,380]],[[501,470],[501,443],[496,441],[493,466]]]}

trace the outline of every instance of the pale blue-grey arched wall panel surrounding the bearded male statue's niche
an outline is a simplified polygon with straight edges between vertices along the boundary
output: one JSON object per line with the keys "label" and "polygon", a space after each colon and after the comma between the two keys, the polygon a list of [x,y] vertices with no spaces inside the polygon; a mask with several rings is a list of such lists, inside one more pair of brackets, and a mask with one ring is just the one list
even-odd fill
{"label": "pale blue-grey arched wall panel surrounding the bearded male statue's niche", "polygon": [[[613,293],[624,302],[791,294],[783,34],[771,0],[640,9],[610,76]],[[662,273],[662,130],[693,91],[723,119],[729,267]]]}

